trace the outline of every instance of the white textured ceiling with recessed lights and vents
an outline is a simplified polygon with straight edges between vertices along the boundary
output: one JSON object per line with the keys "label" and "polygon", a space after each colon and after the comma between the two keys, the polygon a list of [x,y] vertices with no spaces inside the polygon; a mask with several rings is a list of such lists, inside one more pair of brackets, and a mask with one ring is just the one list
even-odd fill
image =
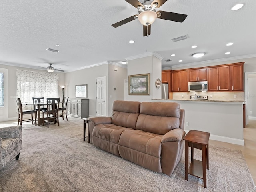
{"label": "white textured ceiling with recessed lights and vents", "polygon": [[[237,3],[244,7],[231,11]],[[28,68],[51,62],[68,72],[107,61],[120,64],[145,52],[160,55],[162,68],[256,56],[255,0],[168,0],[158,10],[188,17],[183,23],[156,19],[151,35],[143,37],[138,20],[111,26],[138,14],[124,0],[0,0],[0,62]],[[183,35],[188,38],[172,42]],[[195,52],[206,55],[193,58]]]}

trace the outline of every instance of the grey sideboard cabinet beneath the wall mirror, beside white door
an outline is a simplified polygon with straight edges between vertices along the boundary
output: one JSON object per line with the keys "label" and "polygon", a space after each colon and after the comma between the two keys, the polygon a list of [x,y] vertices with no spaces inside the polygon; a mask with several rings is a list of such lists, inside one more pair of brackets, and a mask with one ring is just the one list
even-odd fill
{"label": "grey sideboard cabinet beneath the wall mirror, beside white door", "polygon": [[68,114],[72,117],[81,119],[89,117],[89,99],[68,99],[67,110]]}

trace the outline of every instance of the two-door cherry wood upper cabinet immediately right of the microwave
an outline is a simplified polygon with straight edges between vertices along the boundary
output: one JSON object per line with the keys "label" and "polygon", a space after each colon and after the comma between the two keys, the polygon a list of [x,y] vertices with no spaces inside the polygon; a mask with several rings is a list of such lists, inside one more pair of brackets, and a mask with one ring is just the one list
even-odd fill
{"label": "two-door cherry wood upper cabinet immediately right of the microwave", "polygon": [[208,91],[230,91],[230,66],[209,68]]}

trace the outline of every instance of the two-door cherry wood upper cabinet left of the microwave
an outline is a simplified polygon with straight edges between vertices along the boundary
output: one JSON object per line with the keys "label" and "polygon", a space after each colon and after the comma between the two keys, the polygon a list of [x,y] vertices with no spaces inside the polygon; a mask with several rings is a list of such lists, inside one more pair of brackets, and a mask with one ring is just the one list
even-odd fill
{"label": "two-door cherry wood upper cabinet left of the microwave", "polygon": [[172,92],[188,91],[188,70],[172,71]]}

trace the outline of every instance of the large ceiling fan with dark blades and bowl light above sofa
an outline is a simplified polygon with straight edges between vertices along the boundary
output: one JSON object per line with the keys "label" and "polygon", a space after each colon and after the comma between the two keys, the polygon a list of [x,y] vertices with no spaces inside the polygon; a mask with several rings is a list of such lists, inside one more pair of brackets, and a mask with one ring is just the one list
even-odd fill
{"label": "large ceiling fan with dark blades and bowl light above sofa", "polygon": [[166,11],[156,12],[156,9],[162,6],[162,4],[164,4],[167,0],[144,0],[143,3],[140,3],[138,0],[125,0],[125,1],[130,3],[132,6],[136,7],[139,11],[139,14],[133,15],[120,22],[112,24],[112,26],[119,27],[123,24],[126,24],[138,18],[140,23],[143,25],[143,36],[150,35],[151,24],[157,18],[182,23],[188,16],[185,14],[172,13],[172,12],[166,12]]}

